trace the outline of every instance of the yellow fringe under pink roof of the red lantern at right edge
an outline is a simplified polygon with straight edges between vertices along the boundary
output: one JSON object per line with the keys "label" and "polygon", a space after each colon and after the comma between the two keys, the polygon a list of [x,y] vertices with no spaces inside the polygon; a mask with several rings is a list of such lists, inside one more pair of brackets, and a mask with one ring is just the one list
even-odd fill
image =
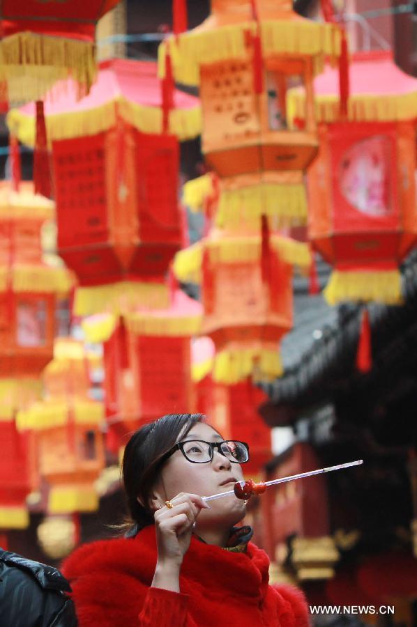
{"label": "yellow fringe under pink roof of the red lantern at right edge", "polygon": [[[287,92],[289,123],[294,118],[305,118],[305,93],[300,89]],[[319,95],[314,98],[318,122],[333,123],[340,120],[338,95]],[[349,122],[400,122],[413,120],[417,111],[417,91],[404,94],[351,95],[347,118]]]}

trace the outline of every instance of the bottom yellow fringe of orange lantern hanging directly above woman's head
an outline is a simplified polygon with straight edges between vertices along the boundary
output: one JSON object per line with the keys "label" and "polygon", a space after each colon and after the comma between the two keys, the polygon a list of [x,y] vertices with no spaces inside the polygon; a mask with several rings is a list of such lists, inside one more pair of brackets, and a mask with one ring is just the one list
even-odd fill
{"label": "bottom yellow fringe of orange lantern hanging directly above woman's head", "polygon": [[278,350],[264,348],[221,350],[215,355],[213,381],[233,385],[248,376],[255,380],[271,380],[282,376]]}

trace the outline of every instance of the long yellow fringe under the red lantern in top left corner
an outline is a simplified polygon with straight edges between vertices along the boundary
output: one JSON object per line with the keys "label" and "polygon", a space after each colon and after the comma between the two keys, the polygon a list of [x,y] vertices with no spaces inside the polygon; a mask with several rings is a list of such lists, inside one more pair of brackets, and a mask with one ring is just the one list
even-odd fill
{"label": "long yellow fringe under the red lantern in top left corner", "polygon": [[0,81],[7,82],[11,103],[42,100],[59,79],[73,77],[79,96],[96,79],[93,42],[39,35],[26,31],[0,41]]}

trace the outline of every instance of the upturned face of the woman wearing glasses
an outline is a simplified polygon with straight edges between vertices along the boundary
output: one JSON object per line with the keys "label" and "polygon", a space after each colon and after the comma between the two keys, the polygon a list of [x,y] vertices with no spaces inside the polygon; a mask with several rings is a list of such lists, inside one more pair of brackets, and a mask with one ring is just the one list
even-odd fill
{"label": "upturned face of the woman wearing glasses", "polygon": [[[180,435],[177,442],[185,440],[205,440],[206,442],[222,442],[223,438],[208,424],[197,423],[187,435]],[[225,479],[231,481],[222,484]],[[210,496],[220,492],[233,490],[234,483],[243,479],[241,465],[231,462],[225,456],[213,451],[211,462],[195,464],[188,461],[181,451],[176,451],[165,463],[160,472],[160,480],[154,493],[162,503],[172,499],[180,492]],[[245,502],[234,495],[209,502],[211,509],[202,509],[197,519],[197,528],[203,529],[213,525],[235,525],[245,516]]]}

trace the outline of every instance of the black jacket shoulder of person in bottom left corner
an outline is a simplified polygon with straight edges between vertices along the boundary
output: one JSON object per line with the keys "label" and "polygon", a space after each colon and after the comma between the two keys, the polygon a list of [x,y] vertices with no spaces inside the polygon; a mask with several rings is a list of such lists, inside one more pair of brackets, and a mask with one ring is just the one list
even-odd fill
{"label": "black jacket shoulder of person in bottom left corner", "polygon": [[56,568],[0,548],[0,627],[77,627],[70,591]]}

